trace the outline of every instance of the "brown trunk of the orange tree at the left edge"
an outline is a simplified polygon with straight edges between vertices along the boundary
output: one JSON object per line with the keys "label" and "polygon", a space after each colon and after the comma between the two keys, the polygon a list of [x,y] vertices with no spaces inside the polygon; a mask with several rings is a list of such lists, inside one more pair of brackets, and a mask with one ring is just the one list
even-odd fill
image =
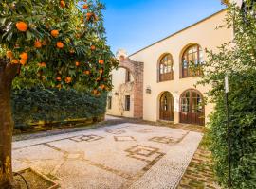
{"label": "brown trunk of the orange tree at the left edge", "polygon": [[11,116],[11,83],[17,73],[17,65],[0,59],[0,188],[13,188],[11,166],[11,142],[13,121]]}

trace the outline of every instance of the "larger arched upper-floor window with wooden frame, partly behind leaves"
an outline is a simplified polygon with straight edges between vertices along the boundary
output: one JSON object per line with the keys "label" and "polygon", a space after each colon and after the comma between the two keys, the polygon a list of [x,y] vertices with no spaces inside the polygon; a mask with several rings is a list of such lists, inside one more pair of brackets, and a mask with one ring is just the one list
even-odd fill
{"label": "larger arched upper-floor window with wooden frame, partly behind leaves", "polygon": [[182,55],[181,71],[182,77],[194,77],[201,75],[196,68],[203,62],[203,51],[198,44],[189,46]]}

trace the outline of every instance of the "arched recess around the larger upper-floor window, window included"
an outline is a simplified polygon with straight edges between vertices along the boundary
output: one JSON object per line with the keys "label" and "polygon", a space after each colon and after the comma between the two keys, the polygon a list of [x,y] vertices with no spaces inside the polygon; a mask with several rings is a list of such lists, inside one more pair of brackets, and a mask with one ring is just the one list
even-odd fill
{"label": "arched recess around the larger upper-floor window, window included", "polygon": [[203,50],[198,43],[187,44],[180,53],[179,63],[179,77],[195,77],[201,75],[201,72],[193,71],[190,66],[191,63],[194,66],[200,65],[203,62]]}

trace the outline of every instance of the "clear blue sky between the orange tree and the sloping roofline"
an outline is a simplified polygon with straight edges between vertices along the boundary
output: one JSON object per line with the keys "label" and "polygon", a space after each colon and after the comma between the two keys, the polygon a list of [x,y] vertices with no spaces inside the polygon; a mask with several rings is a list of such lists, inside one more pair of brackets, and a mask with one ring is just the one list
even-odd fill
{"label": "clear blue sky between the orange tree and the sloping roofline", "polygon": [[101,0],[108,44],[132,54],[224,9],[220,0]]}

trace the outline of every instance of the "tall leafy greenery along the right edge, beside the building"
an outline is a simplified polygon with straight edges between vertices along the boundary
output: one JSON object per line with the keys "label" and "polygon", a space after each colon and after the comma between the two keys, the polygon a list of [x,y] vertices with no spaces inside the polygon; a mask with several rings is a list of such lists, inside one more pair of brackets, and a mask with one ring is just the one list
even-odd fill
{"label": "tall leafy greenery along the right edge, beside the building", "polygon": [[[228,186],[228,139],[224,77],[229,74],[229,113],[231,128],[231,178],[233,188],[256,188],[256,5],[245,2],[243,10],[229,5],[227,25],[234,38],[219,52],[208,51],[201,84],[211,84],[210,149],[215,173],[222,186]],[[246,10],[246,11],[244,11]]]}

